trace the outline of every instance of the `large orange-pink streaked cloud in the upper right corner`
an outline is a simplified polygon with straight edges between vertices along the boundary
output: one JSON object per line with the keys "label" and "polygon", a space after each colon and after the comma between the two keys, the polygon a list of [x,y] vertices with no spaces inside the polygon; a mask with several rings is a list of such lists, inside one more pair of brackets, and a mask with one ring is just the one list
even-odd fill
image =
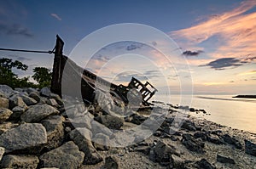
{"label": "large orange-pink streaked cloud in the upper right corner", "polygon": [[214,47],[216,50],[209,54],[215,59],[255,54],[256,12],[250,11],[255,6],[256,1],[241,2],[237,8],[211,16],[189,28],[172,31],[170,36],[182,38],[188,45],[201,44],[212,37],[218,38],[219,43]]}

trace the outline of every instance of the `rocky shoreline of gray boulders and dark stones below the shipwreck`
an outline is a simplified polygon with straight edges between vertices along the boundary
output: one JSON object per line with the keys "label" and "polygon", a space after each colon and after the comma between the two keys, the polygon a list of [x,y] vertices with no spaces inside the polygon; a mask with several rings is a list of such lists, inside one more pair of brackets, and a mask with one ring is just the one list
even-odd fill
{"label": "rocky shoreline of gray boulders and dark stones below the shipwreck", "polygon": [[60,96],[48,88],[0,85],[1,168],[256,168],[255,133],[192,115],[170,133],[183,108],[168,104],[159,109],[166,117],[152,136],[111,147],[113,130],[140,126],[148,119],[146,113],[122,118],[108,115],[97,104],[84,107],[76,101],[64,109]]}

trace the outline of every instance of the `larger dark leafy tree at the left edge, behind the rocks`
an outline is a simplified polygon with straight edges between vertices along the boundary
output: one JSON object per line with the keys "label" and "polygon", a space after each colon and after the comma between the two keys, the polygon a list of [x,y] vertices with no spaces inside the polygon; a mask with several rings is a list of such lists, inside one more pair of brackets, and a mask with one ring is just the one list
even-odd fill
{"label": "larger dark leafy tree at the left edge, behind the rocks", "polygon": [[26,71],[28,66],[22,64],[19,60],[13,61],[12,59],[0,59],[0,83],[6,84],[9,87],[32,87],[33,83],[28,82],[29,77],[19,78],[13,69]]}

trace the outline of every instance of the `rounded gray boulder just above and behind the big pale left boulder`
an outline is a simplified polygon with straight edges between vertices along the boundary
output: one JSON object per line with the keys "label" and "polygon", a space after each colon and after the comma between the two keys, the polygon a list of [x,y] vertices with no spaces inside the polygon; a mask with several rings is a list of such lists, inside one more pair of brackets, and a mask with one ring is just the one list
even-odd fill
{"label": "rounded gray boulder just above and behind the big pale left boulder", "polygon": [[20,119],[25,122],[38,122],[48,117],[49,115],[57,115],[59,111],[48,104],[31,105],[26,112],[20,116]]}

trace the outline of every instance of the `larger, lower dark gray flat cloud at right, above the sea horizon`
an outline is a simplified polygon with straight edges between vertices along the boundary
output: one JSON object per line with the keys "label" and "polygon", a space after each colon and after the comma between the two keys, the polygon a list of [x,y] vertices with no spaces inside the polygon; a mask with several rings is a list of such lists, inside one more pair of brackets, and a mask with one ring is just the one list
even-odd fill
{"label": "larger, lower dark gray flat cloud at right, above the sea horizon", "polygon": [[216,59],[207,65],[201,65],[201,66],[209,66],[212,69],[215,70],[224,70],[226,68],[230,67],[237,67],[240,65],[244,65],[246,62],[241,61],[241,59],[236,59],[236,58],[221,58],[221,59]]}

